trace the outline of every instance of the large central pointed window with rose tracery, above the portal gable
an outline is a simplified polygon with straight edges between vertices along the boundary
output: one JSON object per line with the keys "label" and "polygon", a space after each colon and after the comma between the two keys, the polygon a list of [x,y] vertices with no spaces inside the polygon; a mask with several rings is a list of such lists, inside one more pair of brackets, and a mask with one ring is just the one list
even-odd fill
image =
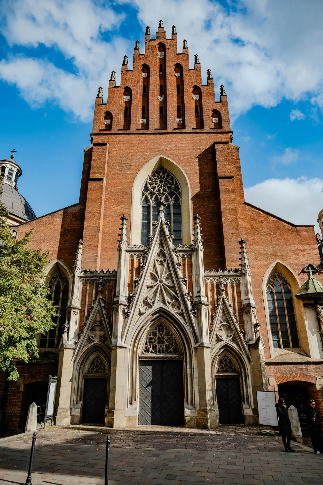
{"label": "large central pointed window with rose tracery, above the portal gable", "polygon": [[156,204],[159,200],[166,204],[165,220],[170,223],[168,231],[173,233],[173,243],[178,246],[182,243],[180,186],[174,175],[162,167],[149,175],[142,191],[141,243],[145,246],[149,244],[152,225],[158,220]]}

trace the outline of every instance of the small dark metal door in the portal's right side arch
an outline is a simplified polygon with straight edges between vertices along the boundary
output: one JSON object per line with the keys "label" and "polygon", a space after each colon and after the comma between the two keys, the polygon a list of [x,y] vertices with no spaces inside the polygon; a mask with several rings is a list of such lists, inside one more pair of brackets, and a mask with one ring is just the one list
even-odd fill
{"label": "small dark metal door in the portal's right side arch", "polygon": [[217,377],[216,400],[220,424],[243,422],[239,377]]}

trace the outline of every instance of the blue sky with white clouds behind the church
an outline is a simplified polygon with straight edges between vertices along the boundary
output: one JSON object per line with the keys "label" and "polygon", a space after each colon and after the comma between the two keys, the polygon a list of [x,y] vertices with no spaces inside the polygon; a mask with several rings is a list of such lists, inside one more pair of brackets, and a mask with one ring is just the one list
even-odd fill
{"label": "blue sky with white clouds behind the church", "polygon": [[[93,104],[159,19],[228,96],[245,198],[296,224],[323,208],[321,0],[2,0],[0,157],[37,215],[78,201]],[[318,227],[316,228],[318,230]]]}

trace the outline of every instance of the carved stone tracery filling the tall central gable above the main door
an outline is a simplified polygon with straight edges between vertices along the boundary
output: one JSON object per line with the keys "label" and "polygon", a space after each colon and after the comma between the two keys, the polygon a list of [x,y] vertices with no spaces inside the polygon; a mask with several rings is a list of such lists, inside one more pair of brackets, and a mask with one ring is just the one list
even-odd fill
{"label": "carved stone tracery filling the tall central gable above the main door", "polygon": [[171,308],[176,313],[181,312],[182,305],[178,299],[173,275],[163,249],[160,249],[155,257],[147,290],[140,307],[141,313],[160,304]]}

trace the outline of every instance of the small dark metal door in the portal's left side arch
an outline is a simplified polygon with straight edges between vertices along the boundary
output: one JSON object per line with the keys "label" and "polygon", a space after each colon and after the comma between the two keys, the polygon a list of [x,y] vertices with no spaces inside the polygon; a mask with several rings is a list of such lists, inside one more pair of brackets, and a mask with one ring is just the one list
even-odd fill
{"label": "small dark metal door in the portal's left side arch", "polygon": [[82,423],[104,423],[108,379],[84,378]]}

